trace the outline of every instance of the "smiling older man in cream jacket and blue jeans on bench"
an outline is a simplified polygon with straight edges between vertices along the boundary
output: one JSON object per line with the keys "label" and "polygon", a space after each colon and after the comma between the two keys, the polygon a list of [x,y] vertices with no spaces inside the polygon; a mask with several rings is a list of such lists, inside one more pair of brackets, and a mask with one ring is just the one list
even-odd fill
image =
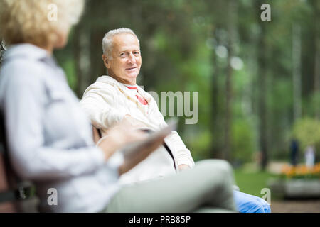
{"label": "smiling older man in cream jacket and blue jeans on bench", "polygon": [[[142,65],[137,35],[129,28],[109,31],[102,40],[102,50],[108,74],[90,85],[80,101],[92,124],[101,129],[102,135],[120,121],[153,131],[164,128],[166,122],[156,101],[136,84]],[[165,142],[172,154],[159,148],[137,167],[122,175],[120,182],[134,183],[173,174],[176,166],[177,171],[193,167],[191,153],[176,131]],[[270,212],[269,204],[257,196],[238,191],[234,191],[234,195],[240,212]]]}

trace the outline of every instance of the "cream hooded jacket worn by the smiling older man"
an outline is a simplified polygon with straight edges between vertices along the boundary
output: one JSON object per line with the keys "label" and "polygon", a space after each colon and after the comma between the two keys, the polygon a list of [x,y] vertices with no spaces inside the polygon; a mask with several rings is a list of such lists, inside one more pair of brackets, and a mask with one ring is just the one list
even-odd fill
{"label": "cream hooded jacket worn by the smiling older man", "polygon": [[[137,86],[137,89],[148,102],[147,105],[141,104],[124,84],[117,82],[110,76],[102,76],[90,87],[87,87],[80,105],[90,116],[93,126],[100,128],[102,135],[106,135],[106,130],[114,123],[122,121],[126,114],[141,121],[151,130],[159,131],[164,128],[166,122],[154,98],[141,87]],[[194,162],[190,150],[186,148],[176,131],[168,135],[165,141],[174,155],[174,160],[161,147],[151,153],[146,160],[122,175],[120,182],[128,184],[174,173],[176,172],[174,161],[176,167],[182,164],[193,167]]]}

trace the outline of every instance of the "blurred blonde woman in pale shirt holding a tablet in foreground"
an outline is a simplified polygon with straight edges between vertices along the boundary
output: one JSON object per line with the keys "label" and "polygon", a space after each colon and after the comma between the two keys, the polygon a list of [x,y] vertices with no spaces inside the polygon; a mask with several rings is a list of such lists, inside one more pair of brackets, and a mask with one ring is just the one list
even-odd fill
{"label": "blurred blonde woman in pale shirt holding a tablet in foreground", "polygon": [[[58,9],[56,20],[50,19],[50,4]],[[0,0],[0,36],[9,45],[0,71],[0,109],[11,163],[19,177],[36,184],[40,210],[235,211],[233,173],[222,160],[199,162],[193,170],[171,177],[119,186],[119,175],[144,160],[170,131],[146,146],[144,134],[120,123],[99,147],[94,145],[90,121],[53,57],[53,50],[67,43],[83,4]],[[130,149],[124,145],[133,142],[134,155],[128,155]],[[55,205],[47,202],[52,188],[58,192]]]}

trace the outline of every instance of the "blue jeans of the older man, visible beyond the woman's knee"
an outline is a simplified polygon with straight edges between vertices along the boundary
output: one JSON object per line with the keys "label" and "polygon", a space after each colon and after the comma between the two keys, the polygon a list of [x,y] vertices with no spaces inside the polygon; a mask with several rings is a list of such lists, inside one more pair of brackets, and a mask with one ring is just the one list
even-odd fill
{"label": "blue jeans of the older man, visible beyond the woman's knee", "polygon": [[270,213],[270,205],[258,196],[234,190],[235,205],[240,213]]}

